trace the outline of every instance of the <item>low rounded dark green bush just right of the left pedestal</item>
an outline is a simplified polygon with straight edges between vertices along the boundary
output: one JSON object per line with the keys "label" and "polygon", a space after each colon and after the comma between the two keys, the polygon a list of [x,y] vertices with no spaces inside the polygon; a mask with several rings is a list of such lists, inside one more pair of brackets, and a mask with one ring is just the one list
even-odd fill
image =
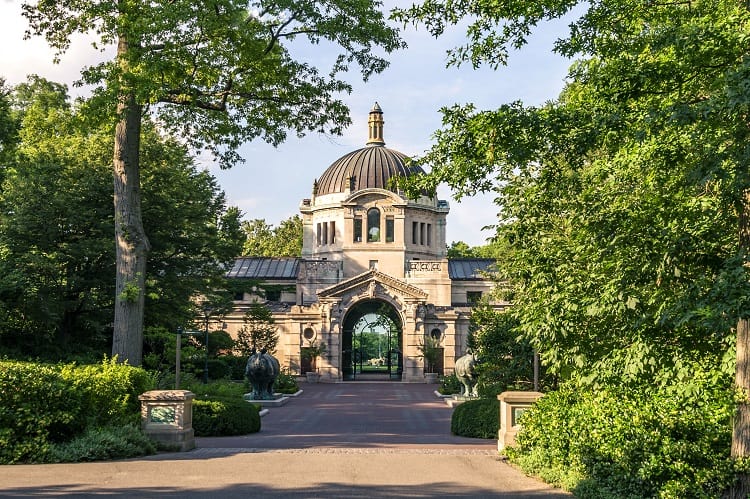
{"label": "low rounded dark green bush just right of the left pedestal", "polygon": [[197,437],[246,435],[260,431],[260,407],[243,399],[193,400]]}

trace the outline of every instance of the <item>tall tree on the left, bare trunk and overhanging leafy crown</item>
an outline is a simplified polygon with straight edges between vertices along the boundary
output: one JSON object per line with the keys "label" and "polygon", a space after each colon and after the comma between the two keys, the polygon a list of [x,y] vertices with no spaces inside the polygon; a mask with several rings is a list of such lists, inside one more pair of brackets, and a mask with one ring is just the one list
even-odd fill
{"label": "tall tree on the left, bare trunk and overhanging leafy crown", "polygon": [[[140,365],[142,356],[151,249],[141,214],[143,116],[153,114],[164,132],[212,152],[222,167],[238,162],[237,147],[258,137],[276,145],[287,130],[340,133],[349,118],[336,94],[350,86],[339,75],[356,63],[367,78],[387,65],[376,49],[402,46],[379,6],[365,0],[24,4],[28,34],[44,35],[58,54],[75,33],[95,33],[98,46],[117,46],[113,61],[83,70],[82,82],[96,86],[95,114],[115,124],[112,353],[120,361]],[[288,46],[300,37],[340,47],[328,76],[294,59]]]}

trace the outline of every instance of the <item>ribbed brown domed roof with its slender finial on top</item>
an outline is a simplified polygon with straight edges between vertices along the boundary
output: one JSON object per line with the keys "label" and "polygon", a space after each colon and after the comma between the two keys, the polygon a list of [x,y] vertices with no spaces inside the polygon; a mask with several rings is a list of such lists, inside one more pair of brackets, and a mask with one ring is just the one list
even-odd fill
{"label": "ribbed brown domed roof with its slender finial on top", "polygon": [[409,177],[424,173],[419,165],[408,165],[408,156],[385,147],[383,111],[375,103],[368,120],[370,138],[367,145],[333,162],[316,182],[316,195],[354,192],[362,189],[389,189],[395,176]]}

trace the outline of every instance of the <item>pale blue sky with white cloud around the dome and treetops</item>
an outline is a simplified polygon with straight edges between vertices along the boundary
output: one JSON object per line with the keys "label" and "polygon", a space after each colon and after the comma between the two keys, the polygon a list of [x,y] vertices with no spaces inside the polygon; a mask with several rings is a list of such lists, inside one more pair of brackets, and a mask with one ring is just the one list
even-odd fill
{"label": "pale blue sky with white cloud around the dome and treetops", "polygon": [[[80,37],[61,62],[53,64],[54,53],[42,38],[23,40],[27,23],[21,16],[21,3],[0,0],[0,77],[14,85],[29,74],[37,74],[67,84],[71,96],[85,92],[73,87],[80,69],[111,57],[112,52],[97,52]],[[386,8],[410,4],[392,0],[386,2]],[[245,163],[220,170],[205,161],[205,167],[217,178],[229,204],[238,206],[245,219],[262,218],[278,225],[299,213],[300,201],[310,197],[313,181],[328,166],[365,145],[368,112],[375,102],[383,109],[386,147],[418,156],[430,148],[432,136],[441,126],[442,107],[474,103],[483,110],[516,100],[538,105],[555,99],[571,63],[552,53],[554,41],[565,28],[565,22],[542,25],[526,47],[511,54],[507,66],[474,70],[470,66],[446,68],[446,50],[462,43],[461,30],[435,39],[424,28],[407,27],[402,37],[409,47],[388,55],[390,66],[383,73],[373,75],[366,83],[357,72],[348,77],[354,90],[341,98],[349,106],[352,125],[342,136],[312,134],[298,139],[292,134],[276,148],[257,140],[240,148]],[[328,57],[333,60],[337,54],[328,54],[324,47],[320,50],[315,57],[323,61]],[[499,211],[491,194],[457,202],[443,186],[438,189],[438,197],[447,199],[451,208],[447,244],[486,244],[492,231],[482,227],[495,223]]]}

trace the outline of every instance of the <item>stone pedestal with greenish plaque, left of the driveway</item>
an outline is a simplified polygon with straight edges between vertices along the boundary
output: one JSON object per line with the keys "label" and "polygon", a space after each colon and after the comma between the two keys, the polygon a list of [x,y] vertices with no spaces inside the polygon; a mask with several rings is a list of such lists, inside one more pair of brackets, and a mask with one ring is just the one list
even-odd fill
{"label": "stone pedestal with greenish plaque, left of the driveway", "polygon": [[139,396],[144,433],[183,452],[194,449],[193,398],[187,390],[152,390]]}

